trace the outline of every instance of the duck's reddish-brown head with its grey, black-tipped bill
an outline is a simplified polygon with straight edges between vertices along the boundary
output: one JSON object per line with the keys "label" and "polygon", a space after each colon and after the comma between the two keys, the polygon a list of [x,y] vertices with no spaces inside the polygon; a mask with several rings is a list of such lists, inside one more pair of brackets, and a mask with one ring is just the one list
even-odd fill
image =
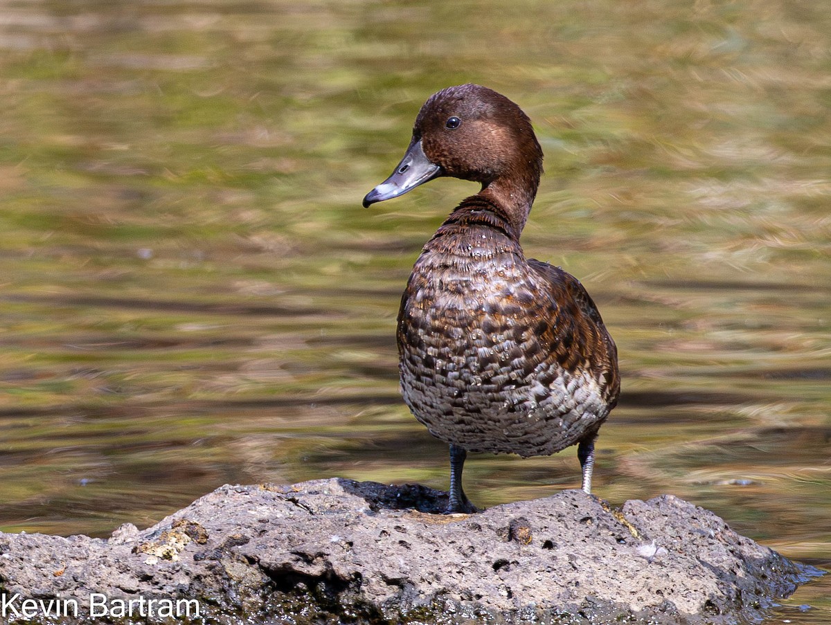
{"label": "duck's reddish-brown head with its grey, black-tipped bill", "polygon": [[542,170],[543,150],[519,106],[484,86],[450,86],[421,107],[404,158],[363,205],[452,176],[494,187],[506,198],[528,196],[529,209]]}

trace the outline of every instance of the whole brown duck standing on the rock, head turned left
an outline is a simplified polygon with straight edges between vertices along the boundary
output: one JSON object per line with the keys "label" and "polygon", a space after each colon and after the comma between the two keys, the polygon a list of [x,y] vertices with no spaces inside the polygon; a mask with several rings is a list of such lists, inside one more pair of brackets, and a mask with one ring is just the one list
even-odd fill
{"label": "whole brown duck standing on the rock, head turned left", "polygon": [[514,101],[450,86],[425,101],[404,158],[363,199],[367,208],[443,176],[481,185],[425,244],[396,324],[404,401],[450,445],[446,514],[477,511],[462,487],[469,452],[578,445],[591,494],[597,433],[617,404],[617,347],[597,306],[577,278],[519,244],[542,174],[543,150]]}

